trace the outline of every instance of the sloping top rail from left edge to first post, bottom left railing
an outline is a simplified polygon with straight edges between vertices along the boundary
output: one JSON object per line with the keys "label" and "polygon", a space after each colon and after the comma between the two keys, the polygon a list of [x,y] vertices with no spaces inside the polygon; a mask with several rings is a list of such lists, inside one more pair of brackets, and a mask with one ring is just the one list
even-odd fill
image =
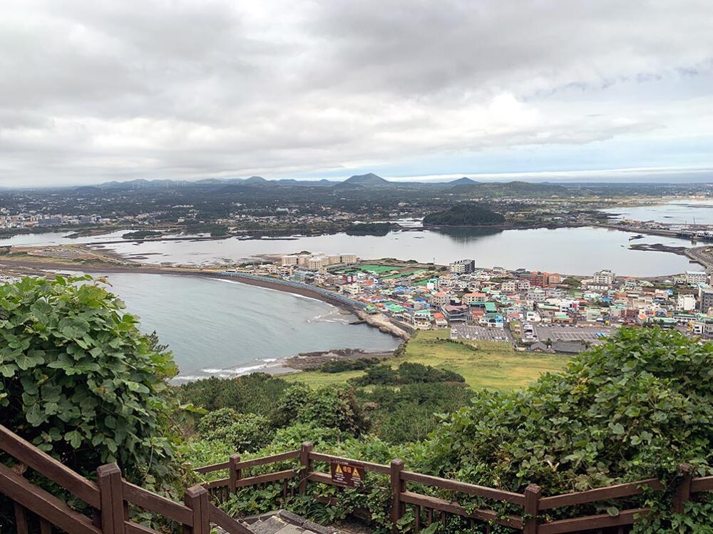
{"label": "sloping top rail from left edge to first post, bottom left railing", "polygon": [[100,508],[99,488],[95,483],[78,475],[2,425],[0,425],[0,449],[81,498],[93,508]]}

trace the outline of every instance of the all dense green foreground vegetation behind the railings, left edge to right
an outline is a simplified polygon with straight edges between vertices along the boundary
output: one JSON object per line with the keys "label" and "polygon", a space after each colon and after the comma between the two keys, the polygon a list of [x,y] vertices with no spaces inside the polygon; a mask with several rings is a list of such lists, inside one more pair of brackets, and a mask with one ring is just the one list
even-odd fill
{"label": "all dense green foreground vegetation behind the railings, left edge to right", "polygon": [[[713,471],[713,344],[660,329],[620,329],[562,374],[515,392],[472,391],[451,371],[413,364],[370,366],[367,386],[311,389],[257,374],[170,389],[170,353],[140,334],[116,297],[88,282],[24,279],[0,287],[0,423],[79,471],[116,460],[145,485],[163,478],[185,487],[190,478],[181,465],[312,441],[318,451],[378,463],[401,457],[412,471],[483,486],[521,492],[537,483],[544,495],[657,477],[667,491],[620,501],[652,508],[637,532],[711,531],[710,496],[677,516],[670,493],[680,463],[696,475]],[[192,403],[202,410],[187,414]],[[289,462],[284,468],[294,467]],[[315,502],[337,490],[312,484],[308,496],[284,505],[324,521],[366,508],[374,531],[386,533],[383,486],[383,477],[369,473],[365,491],[340,493],[337,504]],[[281,491],[279,484],[243,488],[225,508],[267,511]],[[453,499],[447,491],[422,491]],[[548,514],[583,512],[617,508],[602,502]],[[441,531],[464,530],[454,524]]]}

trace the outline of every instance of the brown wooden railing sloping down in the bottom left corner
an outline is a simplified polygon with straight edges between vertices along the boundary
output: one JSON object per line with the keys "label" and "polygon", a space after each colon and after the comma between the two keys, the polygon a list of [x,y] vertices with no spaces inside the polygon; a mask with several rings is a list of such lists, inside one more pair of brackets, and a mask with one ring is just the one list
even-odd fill
{"label": "brown wooden railing sloping down in the bottom left corner", "polygon": [[[209,503],[208,491],[202,486],[186,489],[184,503],[176,503],[125,481],[116,463],[100,466],[93,482],[1,425],[0,451],[17,462],[13,468],[0,463],[0,494],[13,503],[18,534],[36,530],[51,534],[53,527],[71,534],[159,534],[130,520],[130,505],[182,525],[186,534],[210,534],[210,525],[230,534],[250,534],[245,526]],[[22,474],[26,468],[86,503],[91,516],[31,483]]]}

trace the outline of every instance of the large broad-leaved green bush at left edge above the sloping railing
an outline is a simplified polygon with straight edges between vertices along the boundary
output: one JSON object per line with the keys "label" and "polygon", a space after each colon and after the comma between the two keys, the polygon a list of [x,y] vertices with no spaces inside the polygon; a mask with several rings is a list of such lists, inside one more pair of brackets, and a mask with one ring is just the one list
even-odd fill
{"label": "large broad-leaved green bush at left edge above the sloping railing", "polygon": [[164,476],[177,369],[123,309],[91,277],[0,286],[0,423],[82,473]]}

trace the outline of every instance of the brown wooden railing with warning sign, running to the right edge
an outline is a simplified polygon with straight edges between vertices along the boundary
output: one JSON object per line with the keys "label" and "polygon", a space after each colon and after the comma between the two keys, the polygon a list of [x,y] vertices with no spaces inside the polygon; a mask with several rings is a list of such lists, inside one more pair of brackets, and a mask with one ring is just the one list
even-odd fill
{"label": "brown wooden railing with warning sign, running to the right edge", "polygon": [[[263,473],[256,476],[245,476],[245,470],[248,468],[266,466],[288,460],[299,460],[299,468],[283,469],[282,471]],[[220,478],[203,485],[211,496],[218,500],[223,500],[230,493],[235,493],[239,488],[264,485],[275,481],[282,481],[283,494],[286,495],[288,491],[287,481],[290,479],[296,479],[297,484],[293,483],[292,486],[296,486],[299,493],[306,493],[307,483],[309,482],[343,487],[341,483],[333,481],[329,473],[317,471],[314,468],[314,463],[330,463],[332,461],[352,463],[364,467],[366,471],[388,476],[389,487],[382,489],[383,491],[389,491],[391,496],[391,521],[395,524],[401,518],[404,518],[406,506],[409,505],[413,508],[414,523],[412,528],[415,532],[419,532],[422,526],[431,525],[436,520],[446,523],[448,518],[456,517],[460,518],[466,525],[474,525],[476,523],[486,525],[486,532],[489,531],[490,525],[497,524],[525,534],[578,533],[586,530],[600,530],[603,532],[607,529],[614,529],[612,532],[623,533],[635,523],[637,518],[649,512],[649,509],[626,508],[620,510],[616,515],[610,515],[609,513],[580,515],[574,518],[550,521],[546,521],[545,515],[550,515],[551,511],[548,514],[545,513],[548,510],[556,510],[558,508],[640,496],[645,491],[665,490],[665,486],[660,481],[652,478],[607,488],[543,497],[540,495],[540,488],[535,484],[527,486],[523,493],[503,491],[406,471],[404,462],[401,460],[393,460],[387,466],[380,463],[370,463],[353,458],[317,453],[313,451],[312,443],[303,443],[299,451],[288,451],[274,456],[253,458],[246,461],[241,461],[240,456],[236,454],[231,456],[227,462],[200,467],[195,471],[204,474],[214,471],[227,471],[227,478]],[[414,491],[414,488],[409,488],[409,485],[420,486],[423,488],[422,491],[425,491],[426,488],[438,488],[454,494],[476,496],[483,500],[497,503],[501,509],[503,505],[509,505],[511,509],[519,508],[520,513],[503,514],[488,508],[473,509],[466,505],[461,505],[458,500],[446,500],[426,493],[419,493]],[[682,513],[685,503],[692,499],[694,493],[704,491],[713,491],[713,476],[692,478],[690,466],[682,465],[672,509],[677,513]],[[558,515],[564,514],[560,513]]]}

